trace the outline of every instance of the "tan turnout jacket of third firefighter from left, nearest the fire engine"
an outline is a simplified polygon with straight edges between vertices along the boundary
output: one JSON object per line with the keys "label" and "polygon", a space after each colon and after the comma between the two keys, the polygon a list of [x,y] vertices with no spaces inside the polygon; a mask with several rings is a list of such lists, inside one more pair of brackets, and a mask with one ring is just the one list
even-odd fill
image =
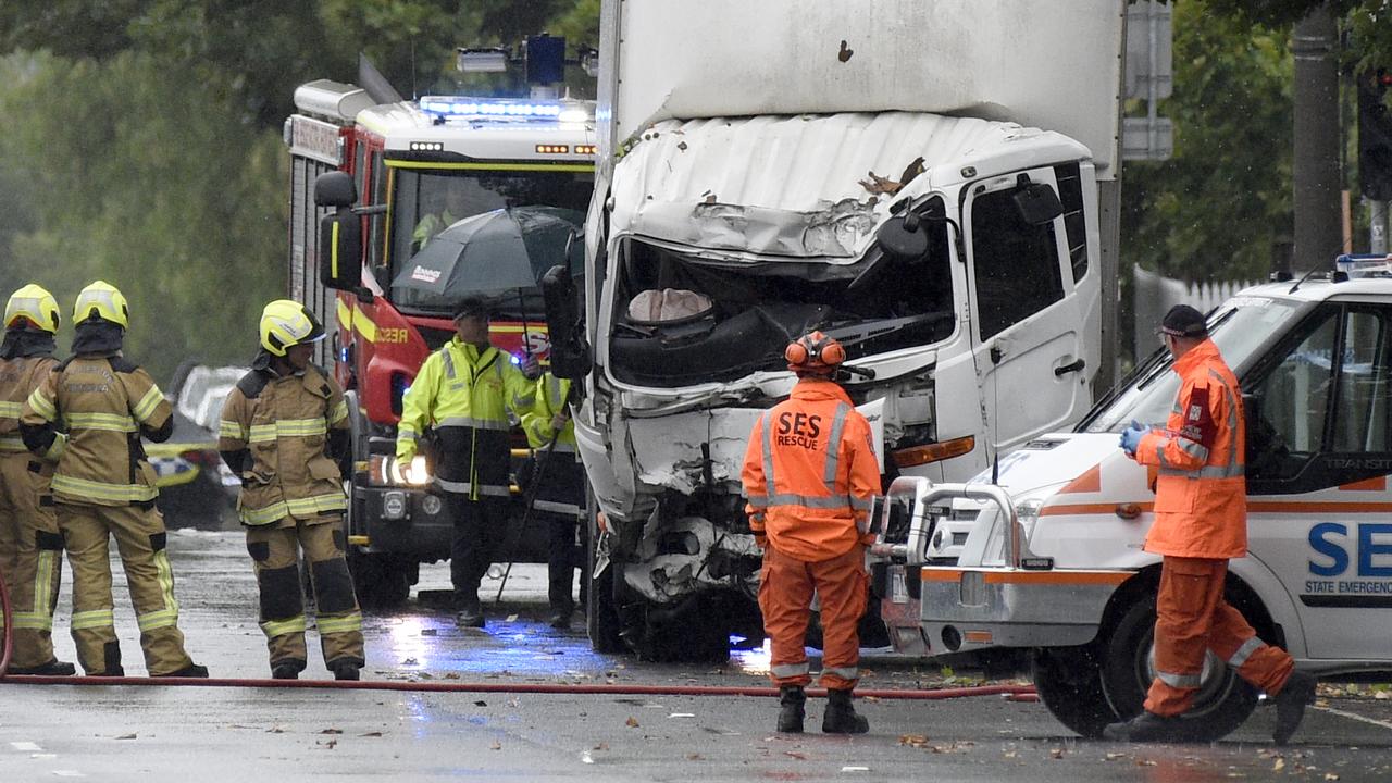
{"label": "tan turnout jacket of third firefighter from left, nearest the fire engine", "polygon": [[348,428],[342,389],[317,366],[242,376],[223,404],[217,439],[217,450],[242,479],[242,524],[294,524],[347,510],[342,475],[327,444],[333,431]]}

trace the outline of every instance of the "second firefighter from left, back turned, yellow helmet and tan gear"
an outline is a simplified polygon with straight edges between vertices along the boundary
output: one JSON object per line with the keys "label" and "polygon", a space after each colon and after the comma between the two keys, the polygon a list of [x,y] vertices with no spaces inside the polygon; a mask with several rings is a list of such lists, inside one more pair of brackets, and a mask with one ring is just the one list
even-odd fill
{"label": "second firefighter from left, back turned, yellow helmet and tan gear", "polygon": [[50,454],[68,431],[52,490],[72,564],[72,639],[88,676],[117,677],[121,646],[111,602],[110,538],[116,536],[141,649],[152,677],[207,677],[184,651],[166,552],[164,518],[155,507],[155,468],[141,436],[156,443],[174,429],[155,380],[121,355],[129,325],[125,297],[100,280],[78,294],[72,357],[29,394],[19,431],[35,454]]}

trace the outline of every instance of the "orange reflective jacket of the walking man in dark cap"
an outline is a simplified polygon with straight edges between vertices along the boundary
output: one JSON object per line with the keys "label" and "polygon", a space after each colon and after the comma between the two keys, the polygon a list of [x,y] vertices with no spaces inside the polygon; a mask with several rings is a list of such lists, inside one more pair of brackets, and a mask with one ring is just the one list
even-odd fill
{"label": "orange reflective jacket of the walking man in dark cap", "polygon": [[1146,552],[1176,557],[1247,553],[1242,389],[1211,340],[1175,361],[1179,396],[1165,429],[1140,439],[1136,461],[1155,468],[1155,524]]}

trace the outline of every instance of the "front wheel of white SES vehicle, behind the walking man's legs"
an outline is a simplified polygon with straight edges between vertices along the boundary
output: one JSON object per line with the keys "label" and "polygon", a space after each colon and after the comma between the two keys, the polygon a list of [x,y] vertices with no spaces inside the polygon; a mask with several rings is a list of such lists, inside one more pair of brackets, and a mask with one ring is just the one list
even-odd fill
{"label": "front wheel of white SES vehicle, behind the walking man's legs", "polygon": [[[1155,595],[1147,594],[1116,621],[1105,639],[1101,683],[1112,711],[1122,719],[1140,715],[1155,677]],[[1185,713],[1180,741],[1211,743],[1229,734],[1257,706],[1257,690],[1214,653],[1204,662],[1203,684]]]}

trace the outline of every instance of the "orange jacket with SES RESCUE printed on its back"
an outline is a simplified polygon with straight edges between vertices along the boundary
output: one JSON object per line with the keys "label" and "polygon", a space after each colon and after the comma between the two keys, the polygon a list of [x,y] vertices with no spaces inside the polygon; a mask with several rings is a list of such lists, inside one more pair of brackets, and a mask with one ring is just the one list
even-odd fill
{"label": "orange jacket with SES RESCUE printed on its back", "polygon": [[880,492],[870,422],[841,386],[805,378],[754,422],[741,478],[756,535],[805,561],[845,555]]}

